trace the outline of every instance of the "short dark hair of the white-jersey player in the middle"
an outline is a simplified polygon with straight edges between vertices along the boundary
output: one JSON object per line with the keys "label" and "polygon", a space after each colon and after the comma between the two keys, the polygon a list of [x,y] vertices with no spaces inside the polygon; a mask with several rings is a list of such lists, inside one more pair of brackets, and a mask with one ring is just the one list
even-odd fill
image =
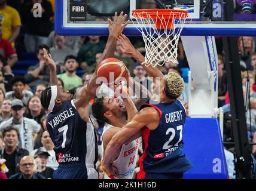
{"label": "short dark hair of the white-jersey player in the middle", "polygon": [[104,98],[96,98],[95,102],[92,104],[93,116],[99,120],[109,123],[108,119],[104,116],[104,113],[108,111],[108,107],[103,104]]}

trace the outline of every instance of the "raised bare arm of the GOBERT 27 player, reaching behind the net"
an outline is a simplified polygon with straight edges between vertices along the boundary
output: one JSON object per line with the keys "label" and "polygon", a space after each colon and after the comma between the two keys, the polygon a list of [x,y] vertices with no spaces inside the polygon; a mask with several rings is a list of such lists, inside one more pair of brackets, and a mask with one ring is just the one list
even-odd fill
{"label": "raised bare arm of the GOBERT 27 player, reaching behind the net", "polygon": [[[118,41],[121,45],[121,51],[124,54],[135,58],[135,60],[139,63],[143,63],[145,61],[145,57],[138,50],[136,50],[135,47],[133,47],[129,38],[127,38],[125,35],[121,34],[120,36],[118,36]],[[148,73],[148,75],[154,78],[154,81],[157,77],[160,77],[160,79],[163,78],[163,73],[161,73],[161,71],[157,67],[145,66],[145,64],[142,64],[141,66],[144,67],[144,70]]]}

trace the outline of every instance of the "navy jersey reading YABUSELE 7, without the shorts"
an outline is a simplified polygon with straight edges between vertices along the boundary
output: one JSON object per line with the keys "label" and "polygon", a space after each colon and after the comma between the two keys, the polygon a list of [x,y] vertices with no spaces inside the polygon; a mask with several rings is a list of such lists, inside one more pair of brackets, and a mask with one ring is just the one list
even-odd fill
{"label": "navy jersey reading YABUSELE 7, without the shorts", "polygon": [[47,130],[61,165],[97,162],[97,139],[92,123],[81,119],[74,100],[66,101],[47,116]]}

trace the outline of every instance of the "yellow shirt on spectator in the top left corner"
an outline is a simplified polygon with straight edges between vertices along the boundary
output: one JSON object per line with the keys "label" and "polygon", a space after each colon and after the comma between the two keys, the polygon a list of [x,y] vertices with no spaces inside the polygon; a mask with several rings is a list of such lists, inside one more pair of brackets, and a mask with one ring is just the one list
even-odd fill
{"label": "yellow shirt on spectator in the top left corner", "polygon": [[19,12],[8,5],[0,10],[0,23],[2,24],[2,38],[5,40],[10,39],[13,27],[22,25]]}

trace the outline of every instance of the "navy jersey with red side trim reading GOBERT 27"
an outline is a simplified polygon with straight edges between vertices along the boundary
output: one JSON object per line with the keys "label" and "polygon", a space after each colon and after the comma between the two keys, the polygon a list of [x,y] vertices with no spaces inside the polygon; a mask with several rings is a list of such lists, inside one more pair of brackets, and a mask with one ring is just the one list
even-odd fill
{"label": "navy jersey with red side trim reading GOBERT 27", "polygon": [[155,130],[143,128],[144,153],[139,160],[141,170],[169,174],[189,170],[192,167],[191,162],[182,153],[182,133],[186,117],[184,106],[179,100],[172,103],[148,100],[142,104],[141,109],[144,107],[154,107],[159,111],[160,124]]}

